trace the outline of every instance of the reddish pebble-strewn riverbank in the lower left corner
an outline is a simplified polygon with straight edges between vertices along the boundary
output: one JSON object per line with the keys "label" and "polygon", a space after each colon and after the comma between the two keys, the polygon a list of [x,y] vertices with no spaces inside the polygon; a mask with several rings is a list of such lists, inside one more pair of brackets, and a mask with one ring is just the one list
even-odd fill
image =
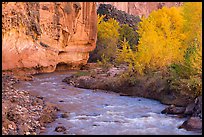
{"label": "reddish pebble-strewn riverbank in the lower left corner", "polygon": [[55,120],[59,109],[41,96],[17,90],[18,82],[15,76],[2,74],[2,135],[40,134]]}

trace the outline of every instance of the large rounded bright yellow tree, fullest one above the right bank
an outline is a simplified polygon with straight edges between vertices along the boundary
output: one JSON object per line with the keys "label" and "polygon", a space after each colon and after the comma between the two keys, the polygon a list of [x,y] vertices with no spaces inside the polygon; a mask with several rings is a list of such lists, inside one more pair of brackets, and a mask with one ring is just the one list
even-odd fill
{"label": "large rounded bright yellow tree, fullest one above the right bank", "polygon": [[143,73],[146,68],[161,69],[183,60],[183,24],[181,9],[176,7],[164,7],[142,18],[135,66],[138,72]]}

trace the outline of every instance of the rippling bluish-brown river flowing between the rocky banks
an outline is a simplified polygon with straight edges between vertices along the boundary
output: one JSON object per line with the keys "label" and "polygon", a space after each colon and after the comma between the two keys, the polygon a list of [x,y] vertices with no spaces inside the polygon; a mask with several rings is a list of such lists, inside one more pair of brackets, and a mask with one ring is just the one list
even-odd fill
{"label": "rippling bluish-brown river flowing between the rocky banks", "polygon": [[[114,92],[80,89],[62,82],[73,74],[61,71],[35,75],[33,81],[18,84],[20,90],[38,94],[60,106],[58,118],[47,125],[43,135],[160,135],[198,134],[178,129],[186,119],[161,114],[167,107],[158,101],[120,96]],[[142,92],[142,91],[141,91]],[[62,111],[68,113],[62,118]],[[65,132],[56,132],[64,126]]]}

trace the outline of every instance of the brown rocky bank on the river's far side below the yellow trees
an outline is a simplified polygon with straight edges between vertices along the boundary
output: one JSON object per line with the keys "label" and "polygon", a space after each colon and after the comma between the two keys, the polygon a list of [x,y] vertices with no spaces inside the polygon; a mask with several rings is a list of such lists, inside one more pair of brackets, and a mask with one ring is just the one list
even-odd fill
{"label": "brown rocky bank on the river's far side below the yellow trees", "polygon": [[179,128],[202,131],[201,96],[194,99],[186,93],[170,91],[168,80],[160,73],[138,77],[136,81],[130,82],[123,75],[127,69],[128,67],[124,65],[103,69],[97,65],[89,64],[81,72],[63,79],[63,82],[79,88],[114,91],[120,93],[121,96],[138,96],[159,100],[163,104],[171,105],[162,113],[188,117],[188,120]]}

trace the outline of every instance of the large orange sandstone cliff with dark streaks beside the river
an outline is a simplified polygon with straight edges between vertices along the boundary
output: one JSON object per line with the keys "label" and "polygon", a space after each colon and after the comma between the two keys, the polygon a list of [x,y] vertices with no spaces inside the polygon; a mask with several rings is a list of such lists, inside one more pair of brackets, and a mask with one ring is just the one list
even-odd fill
{"label": "large orange sandstone cliff with dark streaks beside the river", "polygon": [[95,2],[2,2],[2,70],[85,64],[96,46],[96,25]]}

